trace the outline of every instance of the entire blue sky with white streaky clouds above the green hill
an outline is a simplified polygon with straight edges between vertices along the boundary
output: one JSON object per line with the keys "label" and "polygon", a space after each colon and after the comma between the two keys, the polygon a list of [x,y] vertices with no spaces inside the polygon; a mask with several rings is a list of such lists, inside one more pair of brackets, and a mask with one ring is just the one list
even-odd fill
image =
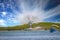
{"label": "entire blue sky with white streaky clouds above the green hill", "polygon": [[60,0],[0,0],[0,26],[60,22]]}

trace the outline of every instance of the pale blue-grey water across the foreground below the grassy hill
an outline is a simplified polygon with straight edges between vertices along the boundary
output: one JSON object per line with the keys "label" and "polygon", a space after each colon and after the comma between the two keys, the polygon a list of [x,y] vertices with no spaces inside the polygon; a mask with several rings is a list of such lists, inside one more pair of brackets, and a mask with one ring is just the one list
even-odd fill
{"label": "pale blue-grey water across the foreground below the grassy hill", "polygon": [[60,40],[60,32],[47,31],[0,31],[0,40]]}

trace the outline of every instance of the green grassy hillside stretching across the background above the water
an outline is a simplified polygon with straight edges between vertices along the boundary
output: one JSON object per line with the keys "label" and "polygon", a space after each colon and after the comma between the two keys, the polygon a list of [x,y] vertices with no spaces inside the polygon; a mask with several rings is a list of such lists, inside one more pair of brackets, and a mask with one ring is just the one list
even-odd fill
{"label": "green grassy hillside stretching across the background above the water", "polygon": [[[60,23],[51,23],[51,22],[33,23],[32,28],[39,26],[39,27],[49,29],[53,24],[58,25],[59,28],[56,28],[56,29],[60,30]],[[17,25],[17,26],[12,26],[12,27],[0,27],[0,30],[24,30],[27,28],[29,28],[29,25],[23,24],[23,25]]]}

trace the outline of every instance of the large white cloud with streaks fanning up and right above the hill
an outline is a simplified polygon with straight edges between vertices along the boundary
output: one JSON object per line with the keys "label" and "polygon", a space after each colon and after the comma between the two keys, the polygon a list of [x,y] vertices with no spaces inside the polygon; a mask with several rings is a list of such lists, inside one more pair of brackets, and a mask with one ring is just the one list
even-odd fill
{"label": "large white cloud with streaks fanning up and right above the hill", "polygon": [[[22,13],[16,14],[15,18],[17,21],[19,21],[21,24],[28,23],[28,17],[33,22],[42,22],[44,19],[55,16],[56,14],[60,13],[60,5],[58,5],[56,8],[53,8],[49,11],[44,11],[43,8],[47,5],[48,1],[40,0],[38,3],[37,0],[33,2],[34,8],[32,10],[29,10],[28,6],[29,1],[20,0],[20,7],[22,9]],[[57,11],[58,10],[58,11]]]}

